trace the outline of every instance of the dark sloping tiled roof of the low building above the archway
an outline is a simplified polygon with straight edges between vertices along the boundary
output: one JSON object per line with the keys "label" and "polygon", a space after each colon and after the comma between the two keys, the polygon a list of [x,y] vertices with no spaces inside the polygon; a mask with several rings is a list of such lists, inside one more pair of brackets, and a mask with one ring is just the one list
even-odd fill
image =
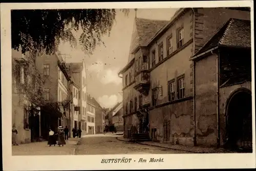
{"label": "dark sloping tiled roof of the low building above the archway", "polygon": [[194,56],[217,46],[250,48],[250,20],[230,18]]}

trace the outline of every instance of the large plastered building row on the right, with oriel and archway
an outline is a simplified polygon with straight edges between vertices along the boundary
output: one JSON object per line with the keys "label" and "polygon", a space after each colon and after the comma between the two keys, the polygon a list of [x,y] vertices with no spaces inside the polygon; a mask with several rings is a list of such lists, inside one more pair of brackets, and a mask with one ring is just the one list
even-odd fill
{"label": "large plastered building row on the right, with oriel and archway", "polygon": [[124,137],[252,148],[250,28],[248,8],[181,8],[170,20],[135,18],[129,59],[119,72]]}

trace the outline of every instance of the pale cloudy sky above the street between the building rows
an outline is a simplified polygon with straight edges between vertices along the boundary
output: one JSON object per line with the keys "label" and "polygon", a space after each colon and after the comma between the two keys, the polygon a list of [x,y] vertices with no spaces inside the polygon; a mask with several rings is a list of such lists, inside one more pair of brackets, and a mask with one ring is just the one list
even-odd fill
{"label": "pale cloudy sky above the street between the building rows", "polygon": [[[169,20],[176,10],[138,9],[137,17]],[[61,44],[59,47],[62,54],[69,55],[67,62],[78,62],[82,59],[86,61],[87,92],[104,108],[111,108],[118,101],[122,101],[122,79],[117,73],[127,63],[135,18],[134,10],[130,11],[129,16],[117,11],[111,36],[102,39],[106,47],[97,47],[90,56],[85,55],[79,46],[72,49],[69,44]]]}

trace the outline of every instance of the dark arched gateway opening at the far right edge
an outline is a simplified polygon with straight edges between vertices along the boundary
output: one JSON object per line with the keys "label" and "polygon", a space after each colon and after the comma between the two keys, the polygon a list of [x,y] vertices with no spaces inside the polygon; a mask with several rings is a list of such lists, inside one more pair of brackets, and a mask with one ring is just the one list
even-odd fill
{"label": "dark arched gateway opening at the far right edge", "polygon": [[240,88],[227,99],[226,133],[227,147],[252,149],[251,92]]}

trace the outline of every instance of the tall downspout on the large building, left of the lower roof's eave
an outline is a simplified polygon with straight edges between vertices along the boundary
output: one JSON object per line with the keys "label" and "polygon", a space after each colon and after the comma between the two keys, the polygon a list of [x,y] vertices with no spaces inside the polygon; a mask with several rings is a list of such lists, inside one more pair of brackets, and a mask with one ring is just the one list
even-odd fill
{"label": "tall downspout on the large building, left of the lower roof's eave", "polygon": [[[193,11],[193,55],[196,53],[196,39],[195,39],[195,11]],[[196,62],[193,60],[193,114],[194,114],[194,146],[197,145],[197,125],[196,125]]]}

